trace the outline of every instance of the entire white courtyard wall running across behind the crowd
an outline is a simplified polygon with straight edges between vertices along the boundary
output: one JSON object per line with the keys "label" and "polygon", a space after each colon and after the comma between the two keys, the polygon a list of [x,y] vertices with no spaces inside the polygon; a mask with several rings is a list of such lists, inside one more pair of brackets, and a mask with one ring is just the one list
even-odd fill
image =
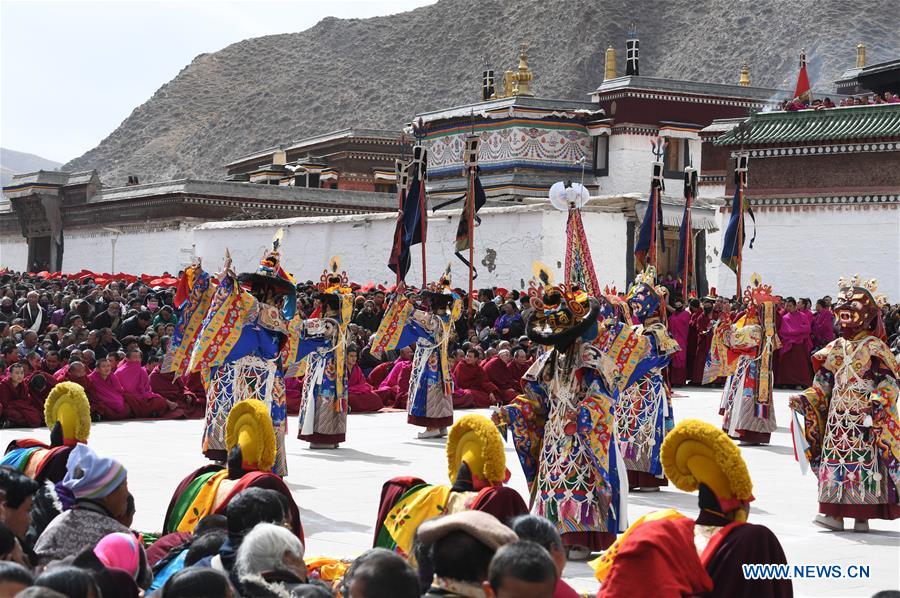
{"label": "entire white courtyard wall running across behind the crowd", "polygon": [[[582,212],[594,267],[602,285],[626,286],[628,238],[626,213],[588,206]],[[476,286],[524,288],[535,261],[561,275],[566,247],[566,214],[547,204],[487,207],[476,228]],[[428,279],[447,264],[465,286],[465,265],[454,255],[460,210],[441,210],[428,218]],[[734,274],[721,264],[721,231],[729,211],[716,214],[718,230],[708,231],[706,276],[709,286],[732,294]],[[227,222],[179,221],[131,224],[120,233],[101,227],[66,229],[63,270],[175,273],[195,257],[209,270],[222,264],[228,249],[238,271],[255,269],[257,260],[279,228],[285,231],[285,267],[298,280],[318,280],[331,256],[359,282],[391,284],[387,269],[393,240],[394,214],[300,217]],[[877,278],[880,291],[900,299],[900,206],[857,204],[756,208],[756,241],[744,250],[744,284],[758,272],[781,295],[814,300],[835,293],[837,279],[859,273]],[[748,239],[754,225],[747,219]],[[112,243],[115,239],[115,263]],[[464,252],[468,258],[468,251]],[[23,237],[0,236],[0,267],[24,269]],[[412,249],[407,280],[421,281],[420,247]]]}

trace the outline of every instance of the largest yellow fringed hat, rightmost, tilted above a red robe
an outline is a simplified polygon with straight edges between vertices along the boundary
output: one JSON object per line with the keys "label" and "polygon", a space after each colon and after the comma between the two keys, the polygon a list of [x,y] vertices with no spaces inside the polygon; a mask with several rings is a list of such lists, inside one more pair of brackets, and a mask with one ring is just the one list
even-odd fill
{"label": "largest yellow fringed hat, rightmost, tilted above a red robe", "polygon": [[686,419],[666,434],[660,450],[663,471],[679,490],[695,492],[703,484],[731,512],[753,500],[753,482],[740,449],[715,426]]}

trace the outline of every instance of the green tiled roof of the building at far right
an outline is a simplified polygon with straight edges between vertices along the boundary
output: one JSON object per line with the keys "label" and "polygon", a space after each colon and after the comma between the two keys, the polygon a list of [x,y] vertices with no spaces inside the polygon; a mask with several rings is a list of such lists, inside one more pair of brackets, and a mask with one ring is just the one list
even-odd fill
{"label": "green tiled roof of the building at far right", "polygon": [[887,142],[881,144],[885,147],[877,149],[900,149],[900,143],[896,143],[900,141],[900,104],[760,112],[714,143],[750,148],[847,141]]}

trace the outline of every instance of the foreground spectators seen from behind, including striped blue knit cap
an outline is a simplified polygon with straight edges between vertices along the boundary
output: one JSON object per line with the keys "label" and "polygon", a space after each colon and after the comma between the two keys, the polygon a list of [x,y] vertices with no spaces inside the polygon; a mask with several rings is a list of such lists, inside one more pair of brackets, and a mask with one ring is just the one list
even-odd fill
{"label": "foreground spectators seen from behind, including striped blue knit cap", "polygon": [[[48,516],[39,507],[46,492],[67,505],[62,512]],[[0,466],[0,596],[578,595],[561,579],[566,555],[558,531],[536,515],[501,522],[465,511],[430,519],[416,531],[415,568],[375,548],[352,563],[331,561],[329,572],[307,565],[284,497],[274,490],[247,488],[224,515],[159,538],[132,529],[135,512],[124,465],[87,445],[73,449],[65,477],[51,489]]]}

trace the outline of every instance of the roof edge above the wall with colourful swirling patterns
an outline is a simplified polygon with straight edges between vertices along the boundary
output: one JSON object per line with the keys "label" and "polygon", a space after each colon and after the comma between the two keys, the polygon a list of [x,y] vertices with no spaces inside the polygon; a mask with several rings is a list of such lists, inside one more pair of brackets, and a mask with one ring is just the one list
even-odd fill
{"label": "roof edge above the wall with colourful swirling patterns", "polygon": [[[549,98],[535,98],[531,96],[512,96],[498,98],[484,102],[475,102],[456,106],[446,110],[424,112],[416,115],[413,121],[416,126],[429,129],[429,125],[438,123],[455,123],[460,121],[475,121],[484,119],[506,118],[581,118],[596,120],[602,118],[604,111],[591,102],[576,100],[558,100]],[[413,123],[404,129],[407,133],[413,132]]]}

